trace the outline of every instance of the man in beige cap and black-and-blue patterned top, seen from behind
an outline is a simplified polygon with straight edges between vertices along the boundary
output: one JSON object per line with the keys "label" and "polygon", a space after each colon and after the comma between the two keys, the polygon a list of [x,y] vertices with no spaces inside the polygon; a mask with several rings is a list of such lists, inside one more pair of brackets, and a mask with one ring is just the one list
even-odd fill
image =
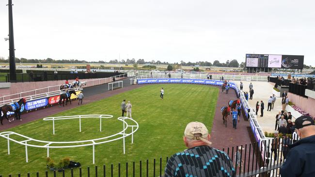
{"label": "man in beige cap and black-and-blue patterned top, seen from behind", "polygon": [[210,147],[210,134],[203,123],[187,124],[183,139],[188,149],[168,160],[164,177],[235,177],[229,156]]}

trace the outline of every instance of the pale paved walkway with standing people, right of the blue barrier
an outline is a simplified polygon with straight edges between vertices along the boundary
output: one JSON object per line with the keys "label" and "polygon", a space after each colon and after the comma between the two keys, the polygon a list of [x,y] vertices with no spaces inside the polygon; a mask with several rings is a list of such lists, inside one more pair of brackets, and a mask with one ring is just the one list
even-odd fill
{"label": "pale paved walkway with standing people, right of the blue barrier", "polygon": [[[249,85],[251,82],[249,81],[242,82],[244,84],[243,91],[247,91],[249,93],[250,92]],[[239,84],[240,81],[236,81],[236,83]],[[274,83],[252,81],[252,85],[254,89],[254,94],[252,96],[252,100],[249,100],[249,104],[253,109],[255,109],[257,101],[259,102],[259,105],[261,100],[265,103],[264,117],[260,117],[259,107],[257,119],[259,125],[263,128],[264,132],[272,133],[274,132],[275,128],[276,115],[279,113],[279,111],[282,110],[281,98],[277,97],[276,102],[274,104],[274,109],[272,109],[271,111],[267,111],[268,99],[270,96],[272,96]]]}

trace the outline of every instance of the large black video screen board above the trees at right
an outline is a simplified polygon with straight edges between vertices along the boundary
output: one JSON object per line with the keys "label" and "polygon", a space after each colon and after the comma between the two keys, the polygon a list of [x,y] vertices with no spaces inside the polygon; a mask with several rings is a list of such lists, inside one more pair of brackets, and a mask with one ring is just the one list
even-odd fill
{"label": "large black video screen board above the trees at right", "polygon": [[246,67],[302,69],[302,55],[246,54]]}

